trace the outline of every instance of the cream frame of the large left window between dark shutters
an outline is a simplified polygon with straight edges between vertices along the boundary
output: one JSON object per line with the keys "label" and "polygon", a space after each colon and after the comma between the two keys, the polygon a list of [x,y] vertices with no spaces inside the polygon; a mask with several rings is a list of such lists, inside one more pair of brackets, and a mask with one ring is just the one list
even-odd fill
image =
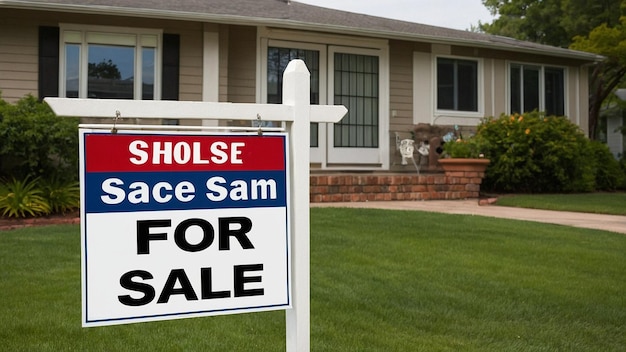
{"label": "cream frame of the large left window between dark shutters", "polygon": [[[161,100],[161,74],[163,31],[159,29],[90,26],[76,24],[61,24],[59,35],[59,96],[67,97],[67,58],[66,45],[79,46],[79,75],[78,75],[78,98],[88,97],[88,47],[95,45],[120,45],[129,40],[134,44],[127,45],[134,48],[134,79],[133,99],[142,100],[143,66],[142,49],[154,48],[154,92],[152,100]],[[152,38],[154,37],[154,38]],[[89,39],[88,39],[89,38]],[[154,43],[147,43],[153,41]],[[145,43],[145,44],[142,44]]]}

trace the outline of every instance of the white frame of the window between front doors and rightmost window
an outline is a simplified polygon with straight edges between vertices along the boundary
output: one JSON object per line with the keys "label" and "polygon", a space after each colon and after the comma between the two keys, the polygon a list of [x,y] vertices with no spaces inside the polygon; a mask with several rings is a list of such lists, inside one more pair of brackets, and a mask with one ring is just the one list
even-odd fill
{"label": "white frame of the window between front doors and rightmost window", "polygon": [[[439,109],[439,80],[438,80],[438,64],[439,59],[448,59],[455,61],[473,61],[476,63],[476,109],[477,111]],[[455,55],[433,55],[432,60],[432,87],[433,87],[433,111],[437,117],[468,117],[482,118],[485,111],[485,92],[484,92],[484,62],[481,58],[455,56]],[[454,89],[454,87],[453,87]]]}

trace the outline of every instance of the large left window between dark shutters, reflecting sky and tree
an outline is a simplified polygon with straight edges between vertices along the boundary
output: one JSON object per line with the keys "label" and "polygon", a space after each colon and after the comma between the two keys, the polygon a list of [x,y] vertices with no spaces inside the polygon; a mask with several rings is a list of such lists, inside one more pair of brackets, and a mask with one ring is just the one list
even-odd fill
{"label": "large left window between dark shutters, reflecting sky and tree", "polygon": [[144,99],[160,96],[161,33],[63,27],[61,91],[68,98]]}

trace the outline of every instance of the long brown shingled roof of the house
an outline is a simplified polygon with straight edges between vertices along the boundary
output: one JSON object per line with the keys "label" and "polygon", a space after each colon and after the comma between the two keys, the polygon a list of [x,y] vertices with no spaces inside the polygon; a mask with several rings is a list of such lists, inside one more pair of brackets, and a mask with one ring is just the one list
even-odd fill
{"label": "long brown shingled roof of the house", "polygon": [[0,0],[0,8],[272,26],[599,61],[602,56],[512,38],[328,9],[290,0]]}

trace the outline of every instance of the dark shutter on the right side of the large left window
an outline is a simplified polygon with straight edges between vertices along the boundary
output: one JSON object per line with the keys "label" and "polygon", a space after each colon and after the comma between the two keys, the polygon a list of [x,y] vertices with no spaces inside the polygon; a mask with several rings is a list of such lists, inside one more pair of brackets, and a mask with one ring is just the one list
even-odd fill
{"label": "dark shutter on the right side of the large left window", "polygon": [[161,99],[178,100],[180,66],[180,36],[163,34],[163,72],[161,74]]}

